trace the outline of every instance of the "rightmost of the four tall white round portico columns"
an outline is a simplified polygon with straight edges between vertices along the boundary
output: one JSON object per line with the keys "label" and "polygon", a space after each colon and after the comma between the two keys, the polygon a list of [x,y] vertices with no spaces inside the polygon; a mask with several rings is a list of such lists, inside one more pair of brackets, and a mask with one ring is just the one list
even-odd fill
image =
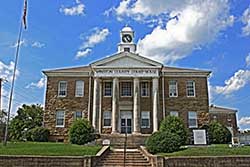
{"label": "rightmost of the four tall white round portico columns", "polygon": [[159,79],[153,78],[153,132],[158,131],[158,87]]}

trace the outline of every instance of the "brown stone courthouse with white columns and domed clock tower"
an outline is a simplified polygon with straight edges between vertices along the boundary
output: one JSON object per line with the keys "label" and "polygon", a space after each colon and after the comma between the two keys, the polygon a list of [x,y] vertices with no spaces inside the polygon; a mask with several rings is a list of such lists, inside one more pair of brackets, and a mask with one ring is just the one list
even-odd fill
{"label": "brown stone courthouse with white columns and domed clock tower", "polygon": [[[99,134],[151,134],[167,115],[187,128],[209,121],[210,71],[164,66],[136,53],[134,32],[120,32],[118,52],[87,66],[45,70],[44,126],[50,140],[67,140],[74,119]],[[153,45],[153,43],[152,43]]]}

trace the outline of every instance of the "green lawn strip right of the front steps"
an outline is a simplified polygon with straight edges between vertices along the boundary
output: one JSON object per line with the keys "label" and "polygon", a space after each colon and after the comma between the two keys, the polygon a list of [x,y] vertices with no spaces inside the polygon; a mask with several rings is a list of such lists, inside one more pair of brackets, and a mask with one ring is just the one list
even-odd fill
{"label": "green lawn strip right of the front steps", "polygon": [[163,156],[228,156],[250,155],[250,146],[229,148],[226,144],[210,145],[208,147],[189,147],[173,153],[160,153]]}

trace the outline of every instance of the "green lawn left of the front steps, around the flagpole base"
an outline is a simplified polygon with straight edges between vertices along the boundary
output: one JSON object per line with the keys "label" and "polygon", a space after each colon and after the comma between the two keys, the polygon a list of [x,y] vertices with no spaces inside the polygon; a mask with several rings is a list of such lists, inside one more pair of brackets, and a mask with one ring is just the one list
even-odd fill
{"label": "green lawn left of the front steps, around the flagpole base", "polygon": [[16,142],[0,145],[0,155],[49,155],[49,156],[83,156],[95,155],[101,146],[79,146],[64,143]]}

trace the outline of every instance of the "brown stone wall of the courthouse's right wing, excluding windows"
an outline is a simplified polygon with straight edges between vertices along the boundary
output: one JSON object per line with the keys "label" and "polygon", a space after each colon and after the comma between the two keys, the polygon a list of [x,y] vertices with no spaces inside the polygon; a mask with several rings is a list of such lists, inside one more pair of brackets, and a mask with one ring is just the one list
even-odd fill
{"label": "brown stone wall of the courthouse's right wing, excluding windows", "polygon": [[[178,97],[169,97],[169,81],[178,83]],[[186,82],[195,81],[195,97],[187,97]],[[179,116],[188,127],[188,112],[195,111],[198,115],[198,126],[209,122],[208,86],[206,77],[165,77],[166,115],[170,111],[179,112]]]}

